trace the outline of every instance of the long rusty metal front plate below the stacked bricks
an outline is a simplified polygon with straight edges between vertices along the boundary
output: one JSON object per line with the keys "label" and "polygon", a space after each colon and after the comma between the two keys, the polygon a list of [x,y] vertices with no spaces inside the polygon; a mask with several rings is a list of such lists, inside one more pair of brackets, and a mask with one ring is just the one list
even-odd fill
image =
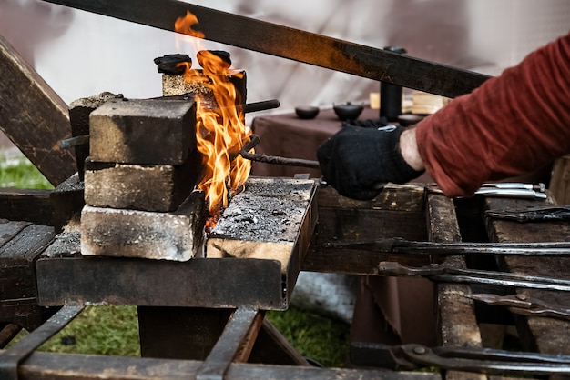
{"label": "long rusty metal front plate below the stacked bricks", "polygon": [[38,304],[44,306],[73,300],[95,305],[255,305],[264,310],[284,310],[290,296],[284,291],[281,265],[273,260],[194,258],[178,263],[42,255],[36,271]]}

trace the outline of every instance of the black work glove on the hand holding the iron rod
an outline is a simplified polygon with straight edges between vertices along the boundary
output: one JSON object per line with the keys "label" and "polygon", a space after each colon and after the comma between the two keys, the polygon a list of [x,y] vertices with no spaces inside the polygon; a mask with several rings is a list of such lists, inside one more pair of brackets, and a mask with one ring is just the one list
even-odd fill
{"label": "black work glove on the hand holding the iron rod", "polygon": [[387,182],[405,184],[422,175],[400,153],[402,126],[362,128],[346,125],[317,150],[321,172],[339,194],[368,200]]}

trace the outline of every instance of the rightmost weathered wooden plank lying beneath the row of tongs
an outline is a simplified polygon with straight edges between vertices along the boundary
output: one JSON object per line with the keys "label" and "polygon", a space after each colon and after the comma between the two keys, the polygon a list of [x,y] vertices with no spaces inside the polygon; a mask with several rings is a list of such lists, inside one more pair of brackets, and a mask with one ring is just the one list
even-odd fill
{"label": "rightmost weathered wooden plank lying beneath the row of tongs", "polygon": [[[529,206],[550,205],[554,201],[487,198],[490,210],[524,209]],[[555,242],[570,236],[570,225],[565,222],[517,223],[498,219],[487,220],[489,235],[495,242]],[[501,269],[521,275],[545,275],[570,279],[570,259],[564,257],[500,257]],[[534,289],[516,289],[517,294],[531,296],[549,304],[570,307],[570,299],[564,292]],[[570,322],[554,318],[515,318],[522,344],[527,350],[545,354],[570,354]]]}

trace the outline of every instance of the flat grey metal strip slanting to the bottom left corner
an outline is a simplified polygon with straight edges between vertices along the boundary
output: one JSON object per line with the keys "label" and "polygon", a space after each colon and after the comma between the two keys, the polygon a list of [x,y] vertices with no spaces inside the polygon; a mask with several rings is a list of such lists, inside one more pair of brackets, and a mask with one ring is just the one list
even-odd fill
{"label": "flat grey metal strip slanting to the bottom left corner", "polygon": [[66,305],[47,322],[39,326],[29,335],[13,345],[10,349],[0,354],[0,379],[17,380],[18,365],[31,355],[37,347],[46,343],[62,328],[71,322],[81,311],[83,306]]}

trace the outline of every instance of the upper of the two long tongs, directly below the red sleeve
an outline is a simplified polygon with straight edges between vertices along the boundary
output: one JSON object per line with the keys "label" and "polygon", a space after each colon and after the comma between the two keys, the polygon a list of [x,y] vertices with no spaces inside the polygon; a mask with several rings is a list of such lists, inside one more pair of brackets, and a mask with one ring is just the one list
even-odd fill
{"label": "upper of the two long tongs, directly below the red sleeve", "polygon": [[570,242],[434,243],[389,238],[357,243],[331,243],[327,247],[405,255],[570,256]]}

